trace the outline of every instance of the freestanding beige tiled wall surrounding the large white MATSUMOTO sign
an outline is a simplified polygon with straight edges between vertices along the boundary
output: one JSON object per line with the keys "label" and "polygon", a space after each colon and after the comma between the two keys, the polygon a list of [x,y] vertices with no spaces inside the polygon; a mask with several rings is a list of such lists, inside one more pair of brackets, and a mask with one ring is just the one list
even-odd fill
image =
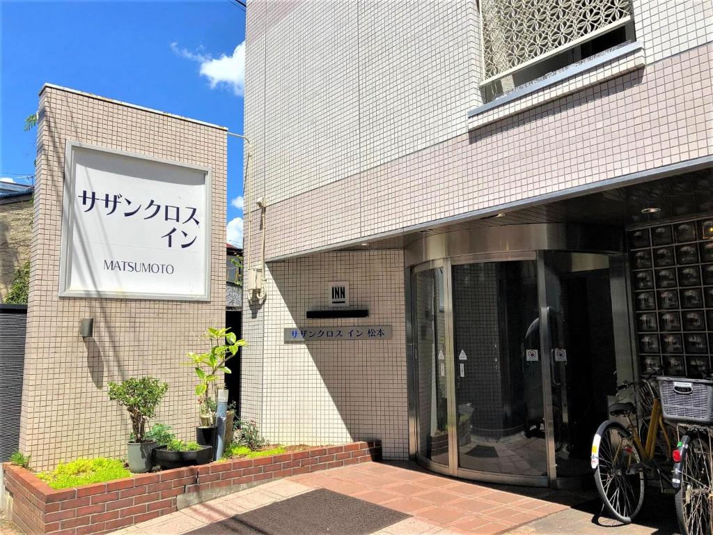
{"label": "freestanding beige tiled wall surrounding the large white MATSUMOTO sign", "polygon": [[[108,381],[151,374],[170,384],[156,420],[195,439],[194,377],[185,353],[225,322],[225,129],[46,87],[40,97],[20,448],[36,469],[81,455],[125,454],[128,415]],[[67,141],[205,165],[212,170],[210,302],[58,297]],[[94,336],[78,334],[94,318]]]}

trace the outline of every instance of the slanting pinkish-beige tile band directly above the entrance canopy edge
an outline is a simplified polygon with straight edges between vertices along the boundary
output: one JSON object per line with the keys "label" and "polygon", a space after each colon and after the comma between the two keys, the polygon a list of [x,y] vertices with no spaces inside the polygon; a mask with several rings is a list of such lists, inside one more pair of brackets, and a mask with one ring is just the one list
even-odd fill
{"label": "slanting pinkish-beige tile band directly above the entrance canopy edge", "polygon": [[690,49],[269,205],[266,256],[711,156],[712,57]]}

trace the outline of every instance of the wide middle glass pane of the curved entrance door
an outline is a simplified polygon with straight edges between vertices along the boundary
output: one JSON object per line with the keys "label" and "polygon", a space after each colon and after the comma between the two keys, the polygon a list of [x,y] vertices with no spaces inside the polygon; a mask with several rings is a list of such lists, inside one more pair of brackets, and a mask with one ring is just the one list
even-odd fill
{"label": "wide middle glass pane of the curved entrance door", "polygon": [[535,260],[452,275],[458,468],[546,478]]}

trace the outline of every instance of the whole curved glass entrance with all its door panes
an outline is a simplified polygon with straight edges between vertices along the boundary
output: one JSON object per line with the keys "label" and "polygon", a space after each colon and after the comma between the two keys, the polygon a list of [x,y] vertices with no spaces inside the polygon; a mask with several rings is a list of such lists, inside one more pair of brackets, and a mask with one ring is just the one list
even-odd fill
{"label": "whole curved glass entrance with all its door panes", "polygon": [[411,302],[424,464],[533,486],[590,476],[617,379],[606,255],[446,258],[414,269]]}

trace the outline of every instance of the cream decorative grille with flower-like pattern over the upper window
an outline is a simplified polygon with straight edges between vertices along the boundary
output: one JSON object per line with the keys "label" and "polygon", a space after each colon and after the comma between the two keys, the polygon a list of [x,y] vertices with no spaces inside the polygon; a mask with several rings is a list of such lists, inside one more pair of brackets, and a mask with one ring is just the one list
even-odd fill
{"label": "cream decorative grille with flower-like pattern over the upper window", "polygon": [[481,0],[485,78],[630,15],[630,0]]}

